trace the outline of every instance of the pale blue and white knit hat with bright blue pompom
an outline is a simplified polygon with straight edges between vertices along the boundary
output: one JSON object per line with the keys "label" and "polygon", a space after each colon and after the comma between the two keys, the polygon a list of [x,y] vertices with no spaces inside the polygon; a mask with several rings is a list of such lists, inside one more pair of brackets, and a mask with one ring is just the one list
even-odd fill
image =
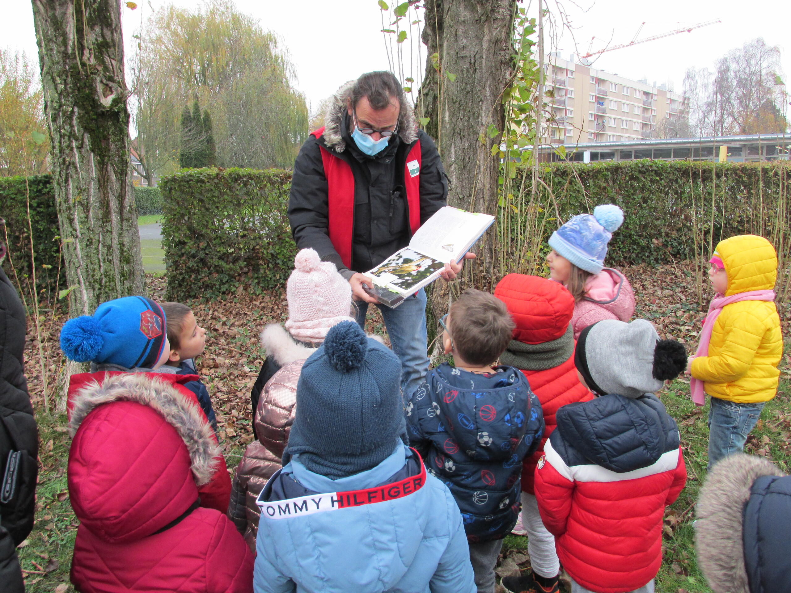
{"label": "pale blue and white knit hat with bright blue pompom", "polygon": [[623,223],[623,210],[614,204],[602,204],[593,215],[577,214],[552,233],[549,245],[558,255],[591,274],[604,268],[607,243]]}

